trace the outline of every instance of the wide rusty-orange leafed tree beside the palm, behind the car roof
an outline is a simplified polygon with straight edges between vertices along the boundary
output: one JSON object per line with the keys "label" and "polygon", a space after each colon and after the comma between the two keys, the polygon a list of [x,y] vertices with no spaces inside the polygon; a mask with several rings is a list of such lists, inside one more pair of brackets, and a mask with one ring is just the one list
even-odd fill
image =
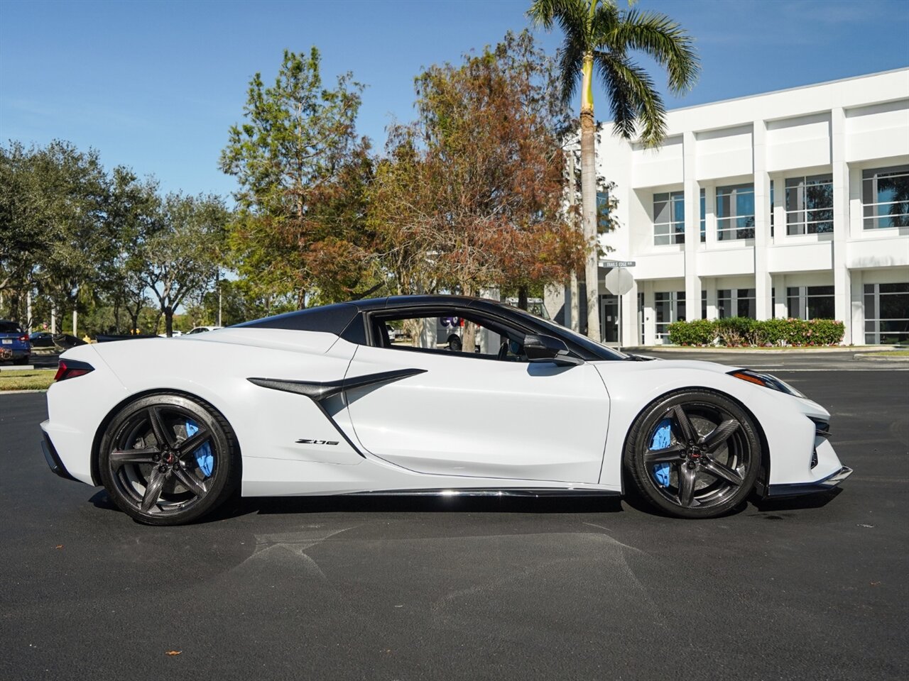
{"label": "wide rusty-orange leafed tree beside the palm, behind the car roof", "polygon": [[583,236],[562,210],[567,116],[553,81],[527,32],[417,77],[419,118],[393,129],[373,201],[399,286],[515,287],[525,299],[581,262]]}

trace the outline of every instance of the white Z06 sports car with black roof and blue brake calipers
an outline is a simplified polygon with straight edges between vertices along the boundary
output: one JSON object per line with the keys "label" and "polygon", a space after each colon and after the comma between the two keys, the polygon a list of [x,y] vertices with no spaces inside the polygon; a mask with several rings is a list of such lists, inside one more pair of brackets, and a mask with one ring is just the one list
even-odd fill
{"label": "white Z06 sports car with black roof and blue brake calipers", "polygon": [[[436,338],[473,322],[474,350]],[[411,331],[392,344],[387,325]],[[422,332],[420,331],[422,330]],[[504,304],[407,296],[67,350],[45,459],[137,520],[244,496],[620,495],[709,518],[834,488],[830,414],[773,376],[647,361]]]}

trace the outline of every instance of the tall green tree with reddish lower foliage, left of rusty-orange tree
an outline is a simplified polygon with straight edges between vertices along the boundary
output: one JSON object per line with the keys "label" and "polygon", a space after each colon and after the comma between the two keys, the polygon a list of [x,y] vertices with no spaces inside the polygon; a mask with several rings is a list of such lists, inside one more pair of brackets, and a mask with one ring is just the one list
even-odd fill
{"label": "tall green tree with reddish lower foliage, left of rusty-orange tree", "polygon": [[260,295],[350,297],[366,277],[353,257],[365,231],[369,147],[355,118],[362,85],[352,74],[323,84],[320,57],[285,51],[275,84],[249,84],[245,122],[230,129],[221,169],[240,185],[230,245],[235,267]]}

